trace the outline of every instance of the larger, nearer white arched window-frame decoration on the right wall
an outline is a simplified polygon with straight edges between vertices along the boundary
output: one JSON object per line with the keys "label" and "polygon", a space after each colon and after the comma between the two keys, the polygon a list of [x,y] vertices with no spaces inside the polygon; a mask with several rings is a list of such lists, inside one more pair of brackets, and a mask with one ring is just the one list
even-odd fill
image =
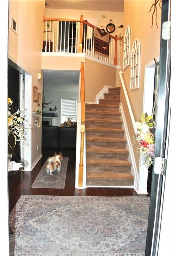
{"label": "larger, nearer white arched window-frame decoration on the right wall", "polygon": [[131,75],[130,75],[130,90],[139,88],[140,74],[140,41],[135,38],[131,49]]}

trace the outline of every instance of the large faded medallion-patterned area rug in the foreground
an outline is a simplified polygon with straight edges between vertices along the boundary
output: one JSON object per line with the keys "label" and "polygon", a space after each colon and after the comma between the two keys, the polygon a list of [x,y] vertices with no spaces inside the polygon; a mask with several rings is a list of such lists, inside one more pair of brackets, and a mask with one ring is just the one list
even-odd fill
{"label": "large faded medallion-patterned area rug in the foreground", "polygon": [[11,256],[142,256],[149,197],[21,196]]}

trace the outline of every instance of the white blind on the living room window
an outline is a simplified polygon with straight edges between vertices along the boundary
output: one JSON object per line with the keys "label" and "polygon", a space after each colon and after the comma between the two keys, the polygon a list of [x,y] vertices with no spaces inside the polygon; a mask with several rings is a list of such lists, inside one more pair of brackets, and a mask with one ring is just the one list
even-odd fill
{"label": "white blind on the living room window", "polygon": [[77,115],[77,98],[61,98],[61,115]]}

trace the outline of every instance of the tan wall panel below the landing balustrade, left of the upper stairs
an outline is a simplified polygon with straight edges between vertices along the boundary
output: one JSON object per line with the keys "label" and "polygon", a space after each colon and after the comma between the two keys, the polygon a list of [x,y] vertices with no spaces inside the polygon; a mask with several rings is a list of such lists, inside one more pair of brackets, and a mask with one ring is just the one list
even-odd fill
{"label": "tan wall panel below the landing balustrade, left of the upper stairs", "polygon": [[105,86],[115,86],[116,69],[85,59],[85,101],[95,102],[95,96]]}

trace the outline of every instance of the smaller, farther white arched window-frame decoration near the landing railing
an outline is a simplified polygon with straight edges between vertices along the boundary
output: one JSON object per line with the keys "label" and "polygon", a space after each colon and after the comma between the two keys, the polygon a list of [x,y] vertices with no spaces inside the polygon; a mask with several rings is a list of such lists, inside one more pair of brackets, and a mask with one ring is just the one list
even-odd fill
{"label": "smaller, farther white arched window-frame decoration near the landing railing", "polygon": [[125,28],[125,34],[124,34],[124,40],[123,40],[123,70],[129,66],[130,38],[131,38],[131,28],[129,25],[127,25]]}

